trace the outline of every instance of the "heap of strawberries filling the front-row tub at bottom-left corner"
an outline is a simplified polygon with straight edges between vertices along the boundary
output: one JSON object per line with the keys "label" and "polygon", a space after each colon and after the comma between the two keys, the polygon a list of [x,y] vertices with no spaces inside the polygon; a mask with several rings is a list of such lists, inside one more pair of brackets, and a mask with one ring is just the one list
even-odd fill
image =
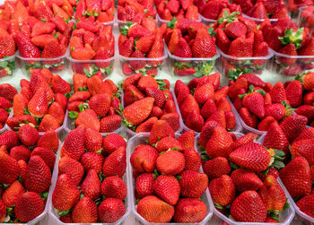
{"label": "heap of strawberries filling the front-row tub at bottom-left corner", "polygon": [[54,131],[39,137],[31,125],[0,135],[0,221],[26,223],[44,212],[58,146]]}

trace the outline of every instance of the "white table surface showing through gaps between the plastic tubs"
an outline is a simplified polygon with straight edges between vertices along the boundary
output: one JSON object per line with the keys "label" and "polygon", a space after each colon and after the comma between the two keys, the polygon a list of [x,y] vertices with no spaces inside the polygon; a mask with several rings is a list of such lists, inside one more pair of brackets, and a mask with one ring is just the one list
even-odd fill
{"label": "white table surface showing through gaps between the plastic tubs", "polygon": [[[3,4],[4,0],[0,0],[0,4]],[[116,37],[116,39],[118,39],[118,24],[117,22],[115,22],[115,26],[113,29],[113,33]],[[116,51],[118,49],[115,49]],[[217,73],[219,71],[217,71],[216,68],[214,68],[213,72],[211,74]],[[63,73],[64,75],[62,75],[62,78],[65,79],[65,81],[73,83],[73,72],[72,70],[69,68],[69,66],[67,66],[65,73]],[[288,80],[293,80],[292,76],[284,76],[284,75],[280,75],[280,74],[275,74],[274,72],[265,70],[263,72],[263,74],[259,75],[259,77],[265,81],[265,82],[271,82],[272,84],[275,84],[275,82],[281,81],[281,82],[285,82]],[[20,68],[18,68],[15,71],[15,74],[13,76],[6,76],[4,78],[0,78],[0,83],[4,83],[4,82],[9,82],[9,83],[13,83],[16,87],[20,86],[20,81],[22,79],[27,79],[30,80],[30,76],[26,75],[26,74],[22,74],[22,70]],[[118,82],[122,82],[124,79],[126,78],[125,75],[122,74],[122,70],[121,70],[121,66],[119,64],[119,60],[118,58],[115,60],[115,64],[114,64],[114,70],[113,72],[109,75],[108,79],[112,80],[113,82],[115,82],[116,84],[118,84]],[[165,64],[163,65],[163,68],[161,71],[159,71],[158,75],[157,75],[158,79],[168,79],[171,83],[171,85],[174,85],[175,82],[177,80],[181,80],[182,82],[188,82],[190,80],[192,80],[193,78],[195,78],[194,76],[172,76],[170,73],[170,66],[169,66],[169,60],[166,59]],[[228,79],[222,75],[221,76],[221,86],[224,85],[228,85]],[[214,217],[213,217],[214,218]],[[48,216],[46,217],[45,220],[40,221],[39,222],[40,225],[55,225],[56,222],[53,221],[51,218],[49,218]],[[135,221],[135,216],[131,213],[127,218],[126,221],[124,221],[122,223],[123,225],[137,225],[140,224],[138,221]],[[221,224],[221,221],[217,221],[212,219],[211,221],[207,222],[207,224]],[[254,224],[254,223],[253,223]]]}

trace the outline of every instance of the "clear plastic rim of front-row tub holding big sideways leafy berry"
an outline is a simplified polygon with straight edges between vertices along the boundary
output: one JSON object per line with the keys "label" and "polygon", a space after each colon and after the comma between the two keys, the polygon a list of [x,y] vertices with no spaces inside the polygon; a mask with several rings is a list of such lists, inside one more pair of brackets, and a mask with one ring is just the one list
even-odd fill
{"label": "clear plastic rim of front-row tub holding big sideways leafy berry", "polygon": [[[238,133],[238,132],[231,132],[233,134],[235,134],[237,136],[237,138],[240,138],[241,136],[243,136],[244,134]],[[196,143],[198,140],[199,135],[196,136]],[[255,140],[255,143],[260,143],[261,144],[261,140],[262,137],[260,137],[258,140]],[[198,151],[198,149],[197,149]],[[199,151],[198,151],[199,152]],[[213,222],[214,224],[222,224],[222,222],[227,222],[229,225],[266,225],[266,224],[274,224],[274,225],[288,225],[292,222],[293,217],[294,217],[294,209],[292,208],[292,201],[289,198],[289,195],[286,191],[286,189],[284,188],[280,178],[277,178],[277,181],[279,182],[280,186],[282,186],[283,191],[285,193],[285,195],[288,198],[288,203],[290,204],[289,208],[284,210],[283,212],[279,213],[279,223],[269,223],[269,222],[240,222],[240,221],[233,221],[231,218],[226,217],[225,215],[222,214],[222,212],[219,212],[218,210],[216,210],[216,208],[214,207],[214,203],[213,201],[211,201],[211,203],[213,203],[212,207],[214,208],[214,217],[213,220],[211,222]],[[210,195],[210,193],[209,193]]]}

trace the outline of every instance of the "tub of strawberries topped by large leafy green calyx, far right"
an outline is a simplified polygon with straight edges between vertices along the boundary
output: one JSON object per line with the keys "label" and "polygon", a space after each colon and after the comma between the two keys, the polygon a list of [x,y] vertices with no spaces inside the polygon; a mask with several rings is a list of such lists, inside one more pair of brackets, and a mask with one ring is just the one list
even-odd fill
{"label": "tub of strawberries topped by large leafy green calyx, far right", "polygon": [[282,18],[273,25],[266,20],[259,29],[263,30],[268,46],[283,54],[275,54],[274,67],[278,73],[297,75],[314,68],[314,38],[309,37],[308,28],[298,28],[290,18]]}

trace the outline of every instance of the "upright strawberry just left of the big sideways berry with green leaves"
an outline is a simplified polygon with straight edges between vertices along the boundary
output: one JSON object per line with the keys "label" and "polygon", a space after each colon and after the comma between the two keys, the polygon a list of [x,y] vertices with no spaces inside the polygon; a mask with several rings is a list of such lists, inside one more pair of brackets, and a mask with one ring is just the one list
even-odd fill
{"label": "upright strawberry just left of the big sideways berry with green leaves", "polygon": [[231,135],[222,126],[216,126],[206,143],[206,153],[210,158],[229,157],[232,143]]}

